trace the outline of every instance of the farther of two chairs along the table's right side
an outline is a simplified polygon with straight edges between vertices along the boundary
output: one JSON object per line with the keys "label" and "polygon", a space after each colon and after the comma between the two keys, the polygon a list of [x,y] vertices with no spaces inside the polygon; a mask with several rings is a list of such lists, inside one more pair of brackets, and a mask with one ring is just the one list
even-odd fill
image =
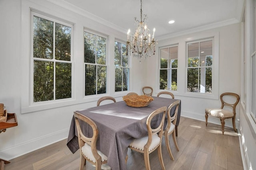
{"label": "farther of two chairs along the table's right side", "polygon": [[[172,139],[173,142],[175,144],[176,150],[179,151],[179,147],[177,145],[177,141],[176,141],[176,136],[175,136],[175,125],[176,125],[176,120],[177,120],[177,115],[178,115],[178,108],[180,105],[180,100],[177,100],[175,102],[173,102],[167,110],[167,127],[164,130],[164,139],[165,139],[165,145],[167,148],[167,151],[171,157],[172,160],[174,160],[173,156],[172,156],[172,152],[171,152],[171,148],[170,148],[170,144],[169,144],[169,135],[172,134]],[[171,109],[175,107],[175,112],[174,115],[171,115]]]}

